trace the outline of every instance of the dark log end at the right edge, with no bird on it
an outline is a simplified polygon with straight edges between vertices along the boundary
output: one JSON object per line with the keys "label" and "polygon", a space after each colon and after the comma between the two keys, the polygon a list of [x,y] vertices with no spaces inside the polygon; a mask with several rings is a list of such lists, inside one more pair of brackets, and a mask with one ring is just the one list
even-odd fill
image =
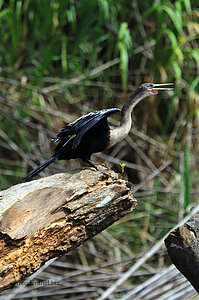
{"label": "dark log end at the right edge, with no bird on it", "polygon": [[199,293],[199,215],[172,230],[165,245],[176,268]]}

